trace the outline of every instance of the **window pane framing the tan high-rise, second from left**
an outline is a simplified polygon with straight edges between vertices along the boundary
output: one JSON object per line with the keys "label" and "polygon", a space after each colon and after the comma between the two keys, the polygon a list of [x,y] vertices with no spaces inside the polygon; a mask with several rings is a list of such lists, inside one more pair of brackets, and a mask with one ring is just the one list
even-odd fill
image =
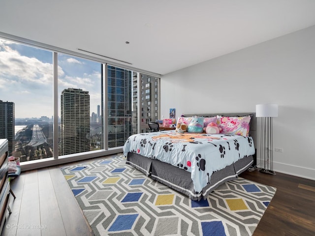
{"label": "window pane framing the tan high-rise, second from left", "polygon": [[103,148],[101,63],[58,54],[59,155]]}

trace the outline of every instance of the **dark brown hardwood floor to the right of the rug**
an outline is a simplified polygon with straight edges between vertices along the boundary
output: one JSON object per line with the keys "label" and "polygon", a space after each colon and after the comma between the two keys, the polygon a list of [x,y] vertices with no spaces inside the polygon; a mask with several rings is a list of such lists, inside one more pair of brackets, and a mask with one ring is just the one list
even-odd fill
{"label": "dark brown hardwood floor to the right of the rug", "polygon": [[277,188],[254,236],[315,236],[315,181],[246,171],[240,177]]}

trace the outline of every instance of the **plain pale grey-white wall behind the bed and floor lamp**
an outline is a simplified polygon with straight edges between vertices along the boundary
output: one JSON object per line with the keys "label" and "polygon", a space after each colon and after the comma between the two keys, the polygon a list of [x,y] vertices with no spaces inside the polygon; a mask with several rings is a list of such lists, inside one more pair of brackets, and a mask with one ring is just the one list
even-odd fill
{"label": "plain pale grey-white wall behind the bed and floor lamp", "polygon": [[178,118],[255,112],[261,103],[279,105],[274,148],[284,152],[274,152],[274,170],[315,179],[315,26],[161,77],[164,118],[169,108]]}

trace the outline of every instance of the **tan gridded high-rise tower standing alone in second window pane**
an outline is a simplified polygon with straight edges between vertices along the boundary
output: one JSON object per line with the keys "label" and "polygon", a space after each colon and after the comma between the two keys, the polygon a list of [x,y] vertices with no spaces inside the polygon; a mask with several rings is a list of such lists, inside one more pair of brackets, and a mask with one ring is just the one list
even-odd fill
{"label": "tan gridded high-rise tower standing alone in second window pane", "polygon": [[90,95],[82,89],[63,89],[61,94],[61,147],[67,155],[90,151]]}

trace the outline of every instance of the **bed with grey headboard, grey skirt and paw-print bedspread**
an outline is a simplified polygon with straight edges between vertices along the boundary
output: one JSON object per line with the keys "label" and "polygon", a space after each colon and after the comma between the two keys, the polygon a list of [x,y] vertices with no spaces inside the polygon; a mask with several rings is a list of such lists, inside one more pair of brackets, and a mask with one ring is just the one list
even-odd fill
{"label": "bed with grey headboard, grey skirt and paw-print bedspread", "polygon": [[233,133],[180,133],[164,130],[131,135],[124,145],[126,164],[191,200],[206,199],[222,183],[254,164],[255,113],[186,114],[185,117],[250,116],[248,136]]}

